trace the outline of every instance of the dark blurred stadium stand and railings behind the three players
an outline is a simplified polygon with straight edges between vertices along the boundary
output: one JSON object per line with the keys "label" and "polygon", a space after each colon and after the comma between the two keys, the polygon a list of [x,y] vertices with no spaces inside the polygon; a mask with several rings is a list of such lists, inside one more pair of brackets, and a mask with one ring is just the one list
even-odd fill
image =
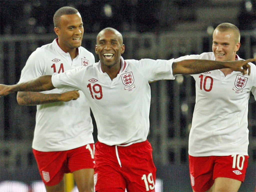
{"label": "dark blurred stadium stand and railings behind the three players", "polygon": [[[96,61],[96,36],[105,27],[123,34],[125,59],[170,59],[211,51],[213,29],[223,22],[233,23],[241,31],[238,55],[244,59],[256,57],[255,0],[1,0],[0,83],[17,83],[29,55],[56,38],[52,18],[62,6],[73,6],[81,13],[82,46],[95,55]],[[157,190],[191,191],[188,134],[195,104],[194,80],[179,76],[175,81],[152,83],[151,88],[148,139],[154,150]],[[255,191],[256,186],[256,106],[252,95],[249,103],[250,159],[239,191]],[[1,192],[7,192],[7,188],[15,191],[5,186],[18,186],[19,192],[44,191],[31,149],[35,113],[35,106],[19,106],[16,94],[0,99]],[[96,127],[94,139],[96,142]]]}

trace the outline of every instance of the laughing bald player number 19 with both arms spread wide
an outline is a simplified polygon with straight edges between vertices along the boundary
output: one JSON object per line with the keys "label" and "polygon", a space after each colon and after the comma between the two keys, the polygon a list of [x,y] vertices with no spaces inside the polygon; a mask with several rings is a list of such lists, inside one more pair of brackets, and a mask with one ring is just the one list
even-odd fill
{"label": "laughing bald player number 19 with both arms spread wide", "polygon": [[[151,90],[149,82],[175,79],[220,68],[247,73],[249,61],[124,60],[119,31],[105,28],[97,36],[100,61],[60,74],[42,76],[21,84],[0,85],[0,95],[15,91],[81,90],[98,128],[95,144],[95,190],[155,191],[156,167],[147,140]],[[241,68],[242,67],[242,68]]]}

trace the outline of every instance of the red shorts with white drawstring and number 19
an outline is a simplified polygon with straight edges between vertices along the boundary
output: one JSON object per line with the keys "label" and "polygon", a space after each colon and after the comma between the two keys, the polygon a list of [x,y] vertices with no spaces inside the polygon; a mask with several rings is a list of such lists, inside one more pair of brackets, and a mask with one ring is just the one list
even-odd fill
{"label": "red shorts with white drawstring and number 19", "polygon": [[155,191],[156,167],[146,140],[129,146],[95,143],[95,191]]}

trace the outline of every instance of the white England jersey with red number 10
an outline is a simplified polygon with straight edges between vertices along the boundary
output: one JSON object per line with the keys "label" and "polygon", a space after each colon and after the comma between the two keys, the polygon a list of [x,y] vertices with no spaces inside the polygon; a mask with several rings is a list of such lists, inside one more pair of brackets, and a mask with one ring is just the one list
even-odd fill
{"label": "white England jersey with red number 10", "polygon": [[[175,61],[184,59],[215,60],[215,56],[213,52],[208,52],[180,57]],[[238,56],[237,59],[241,60]],[[250,65],[250,76],[233,71],[225,77],[220,70],[192,75],[196,81],[196,104],[189,134],[189,155],[248,155],[250,92],[256,100],[256,67],[253,63]],[[248,78],[242,89],[235,86],[239,76]]]}

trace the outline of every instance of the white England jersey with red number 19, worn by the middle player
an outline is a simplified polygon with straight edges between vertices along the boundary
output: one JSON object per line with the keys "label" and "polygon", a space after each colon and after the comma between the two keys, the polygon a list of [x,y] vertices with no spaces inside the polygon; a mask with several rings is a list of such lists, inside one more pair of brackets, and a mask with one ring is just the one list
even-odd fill
{"label": "white England jersey with red number 19, worn by the middle player", "polygon": [[98,62],[54,74],[52,83],[56,88],[83,91],[94,114],[101,143],[110,146],[138,143],[146,140],[149,131],[151,90],[148,82],[175,79],[172,61],[124,62],[121,58],[121,70],[112,81]]}

